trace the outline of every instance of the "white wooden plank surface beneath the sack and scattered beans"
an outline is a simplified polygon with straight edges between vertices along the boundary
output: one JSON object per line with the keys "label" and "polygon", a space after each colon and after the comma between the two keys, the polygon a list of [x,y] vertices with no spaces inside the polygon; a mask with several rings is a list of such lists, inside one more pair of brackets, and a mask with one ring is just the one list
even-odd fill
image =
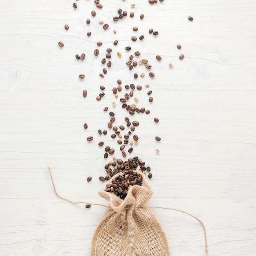
{"label": "white wooden plank surface beneath the sack and scattered beans", "polygon": [[[90,255],[105,209],[85,209],[57,198],[47,164],[63,197],[107,204],[97,194],[106,184],[98,177],[106,175],[104,165],[111,157],[103,158],[98,142],[115,148],[115,157],[121,157],[121,151],[110,137],[109,115],[103,108],[115,112],[115,125],[124,124],[129,114],[119,98],[124,85],[134,83],[142,85],[134,95],[138,106],[151,112],[130,116],[140,125],[139,144],[128,156],[138,155],[151,167],[154,193],[149,206],[181,209],[202,220],[211,256],[255,256],[256,2],[165,0],[150,5],[147,0],[101,0],[102,9],[93,0],[76,1],[77,9],[72,3],[1,2],[0,255]],[[134,11],[135,17],[114,22],[118,8]],[[99,20],[109,29],[103,31]],[[137,32],[132,31],[135,26]],[[159,35],[150,35],[150,28]],[[131,36],[142,34],[142,42],[131,41]],[[96,58],[97,41],[103,45]],[[132,50],[126,52],[126,46]],[[110,47],[112,67],[102,79],[101,58]],[[154,79],[144,65],[128,70],[125,63],[136,50],[141,52],[137,61],[146,58],[152,65]],[[75,55],[83,52],[85,60],[77,61]],[[156,60],[157,54],[162,61]],[[182,61],[180,54],[185,55]],[[146,75],[135,80],[135,72]],[[115,99],[117,79],[123,90]],[[100,85],[106,87],[105,96],[96,101]],[[148,90],[153,91],[152,103]],[[108,130],[108,135],[99,135],[98,129]],[[94,137],[91,143],[88,136]],[[203,231],[196,220],[175,211],[152,211],[172,256],[204,255]]]}

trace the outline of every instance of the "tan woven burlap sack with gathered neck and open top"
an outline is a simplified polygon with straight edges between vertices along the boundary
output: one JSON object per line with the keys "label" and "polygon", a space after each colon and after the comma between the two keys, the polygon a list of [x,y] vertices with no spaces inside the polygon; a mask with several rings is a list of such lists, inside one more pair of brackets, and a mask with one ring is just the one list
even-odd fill
{"label": "tan woven burlap sack with gathered neck and open top", "polygon": [[164,231],[146,205],[152,193],[144,175],[142,185],[131,186],[124,200],[105,189],[99,192],[110,206],[92,238],[91,256],[170,256]]}

